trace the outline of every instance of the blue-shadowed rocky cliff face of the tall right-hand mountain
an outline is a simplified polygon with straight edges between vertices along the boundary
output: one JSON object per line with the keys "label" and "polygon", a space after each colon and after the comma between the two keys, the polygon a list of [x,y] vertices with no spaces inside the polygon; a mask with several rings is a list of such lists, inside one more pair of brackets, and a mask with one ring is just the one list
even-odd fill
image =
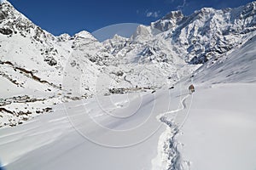
{"label": "blue-shadowed rocky cliff face of the tall right-hand mountain", "polygon": [[203,64],[236,48],[255,31],[255,4],[222,10],[202,8],[189,16],[172,12],[152,23],[151,28],[165,31],[163,36],[183,51],[186,62]]}

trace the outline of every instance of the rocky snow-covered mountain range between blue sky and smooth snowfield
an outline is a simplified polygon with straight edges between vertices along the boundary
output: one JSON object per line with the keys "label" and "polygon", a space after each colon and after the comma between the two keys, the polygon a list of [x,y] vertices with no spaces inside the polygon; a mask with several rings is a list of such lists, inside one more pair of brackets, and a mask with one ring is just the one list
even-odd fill
{"label": "rocky snow-covered mountain range between blue sky and smooth snowfield", "polygon": [[0,126],[15,126],[61,102],[170,87],[199,67],[218,67],[255,35],[255,4],[202,8],[189,16],[174,11],[138,26],[131,38],[98,42],[87,31],[55,37],[3,1]]}

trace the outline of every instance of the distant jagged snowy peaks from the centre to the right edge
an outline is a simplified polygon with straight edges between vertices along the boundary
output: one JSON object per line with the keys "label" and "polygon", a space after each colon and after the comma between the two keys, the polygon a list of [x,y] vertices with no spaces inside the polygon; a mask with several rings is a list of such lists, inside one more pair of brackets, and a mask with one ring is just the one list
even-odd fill
{"label": "distant jagged snowy peaks from the centre to the right edge", "polygon": [[[129,43],[113,38],[111,54],[135,54],[149,60],[172,60],[177,55],[190,65],[218,59],[247,42],[256,31],[255,2],[239,8],[201,8],[189,16],[172,11],[151,26],[138,26]],[[158,51],[158,53],[154,53]],[[166,59],[167,58],[167,59]]]}

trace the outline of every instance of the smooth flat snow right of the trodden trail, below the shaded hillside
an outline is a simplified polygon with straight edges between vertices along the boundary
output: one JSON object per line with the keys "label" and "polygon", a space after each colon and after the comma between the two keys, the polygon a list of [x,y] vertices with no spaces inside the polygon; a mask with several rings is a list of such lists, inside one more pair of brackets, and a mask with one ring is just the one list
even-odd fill
{"label": "smooth flat snow right of the trodden trail, below the shaded hillside", "polygon": [[177,135],[183,168],[238,170],[256,167],[254,83],[197,89]]}

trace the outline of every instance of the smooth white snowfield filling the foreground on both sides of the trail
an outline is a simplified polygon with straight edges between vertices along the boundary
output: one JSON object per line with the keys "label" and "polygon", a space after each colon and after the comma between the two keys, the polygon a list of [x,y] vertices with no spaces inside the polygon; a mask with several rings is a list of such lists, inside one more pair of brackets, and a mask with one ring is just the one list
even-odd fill
{"label": "smooth white snowfield filling the foreground on both sides of the trail", "polygon": [[[253,169],[256,166],[256,136],[253,135],[256,130],[253,105],[255,88],[256,84],[253,83],[220,84],[211,88],[198,88],[193,96],[186,96],[186,91],[183,91],[181,94],[185,98],[172,90],[159,91],[155,96],[151,93],[142,94],[141,107],[134,116],[125,120],[109,116],[97,107],[95,99],[67,105],[67,112],[72,111],[68,114],[64,106],[59,105],[55,107],[54,114],[39,116],[23,126],[2,129],[1,160],[8,170],[152,167]],[[181,99],[185,99],[184,107],[180,106]],[[113,100],[116,100],[113,102],[116,107],[105,108],[108,111],[111,109],[111,113],[131,113],[135,108],[134,104],[125,107],[127,99],[124,95],[113,96]],[[137,96],[133,96],[132,100],[135,103],[140,101]],[[170,101],[170,106],[166,101]],[[108,102],[105,104],[108,105]],[[115,135],[113,131],[86,119],[87,114],[105,127],[126,129],[129,133],[123,131],[121,134],[124,136]],[[162,120],[169,119],[171,128],[166,129],[157,121],[159,116],[163,117]],[[144,122],[145,118],[148,118],[147,122]],[[179,133],[175,133],[176,126],[172,127],[172,120],[176,121],[177,127],[182,126]],[[80,133],[89,130],[85,133],[86,138],[74,129],[70,121],[77,125],[75,127],[80,129]],[[131,127],[137,127],[140,123],[143,123],[143,127],[130,132]],[[174,139],[173,134],[176,134]],[[111,148],[90,140],[116,146],[135,145]]]}

